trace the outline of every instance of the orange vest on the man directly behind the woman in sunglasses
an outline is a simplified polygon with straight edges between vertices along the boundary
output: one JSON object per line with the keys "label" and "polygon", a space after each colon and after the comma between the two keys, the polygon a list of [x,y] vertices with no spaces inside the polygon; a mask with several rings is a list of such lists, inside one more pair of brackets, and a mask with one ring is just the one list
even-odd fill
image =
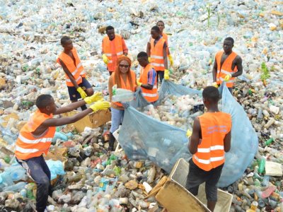
{"label": "orange vest on the man directly behind the woman in sunglasses", "polygon": [[[112,48],[111,42],[114,42],[115,48]],[[108,71],[115,71],[117,68],[117,59],[123,55],[122,36],[115,34],[115,38],[112,41],[109,40],[108,36],[105,36],[103,38],[102,50],[103,54],[109,59],[107,65]]]}

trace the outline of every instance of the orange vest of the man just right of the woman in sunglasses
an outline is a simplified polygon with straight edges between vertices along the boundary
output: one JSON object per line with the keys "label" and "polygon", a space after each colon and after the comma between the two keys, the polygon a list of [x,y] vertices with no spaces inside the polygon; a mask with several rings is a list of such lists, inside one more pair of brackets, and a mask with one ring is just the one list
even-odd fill
{"label": "orange vest of the man just right of the woman in sunglasses", "polygon": [[[139,78],[141,84],[147,84],[148,73],[149,71],[151,71],[151,69],[154,69],[154,66],[152,66],[151,64],[148,64],[145,68],[141,69],[141,76]],[[148,102],[155,102],[156,100],[158,100],[157,76],[154,81],[154,88],[152,88],[152,90],[149,90],[141,87],[141,93]]]}

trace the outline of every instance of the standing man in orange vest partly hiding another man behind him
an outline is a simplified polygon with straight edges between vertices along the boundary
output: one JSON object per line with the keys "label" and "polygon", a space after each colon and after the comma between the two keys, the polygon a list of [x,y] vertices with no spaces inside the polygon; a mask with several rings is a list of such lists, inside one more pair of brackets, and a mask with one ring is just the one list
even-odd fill
{"label": "standing man in orange vest partly hiding another man behind him", "polygon": [[[150,50],[149,50],[150,49]],[[167,58],[167,44],[166,40],[161,36],[161,31],[158,26],[151,28],[151,42],[150,47],[147,48],[147,54],[149,55],[149,60],[157,73],[157,83],[158,77],[160,83],[162,83],[163,78],[169,79],[168,71],[168,58]]]}

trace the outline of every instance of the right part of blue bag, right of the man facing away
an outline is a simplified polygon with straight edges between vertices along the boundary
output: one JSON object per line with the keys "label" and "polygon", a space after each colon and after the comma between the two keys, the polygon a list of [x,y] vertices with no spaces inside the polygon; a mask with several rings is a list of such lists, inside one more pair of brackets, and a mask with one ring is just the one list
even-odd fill
{"label": "right part of blue bag, right of the man facing away", "polygon": [[218,187],[226,187],[241,178],[258,151],[258,136],[243,107],[236,102],[226,86],[222,90],[222,112],[232,116],[231,149],[225,153],[225,164]]}

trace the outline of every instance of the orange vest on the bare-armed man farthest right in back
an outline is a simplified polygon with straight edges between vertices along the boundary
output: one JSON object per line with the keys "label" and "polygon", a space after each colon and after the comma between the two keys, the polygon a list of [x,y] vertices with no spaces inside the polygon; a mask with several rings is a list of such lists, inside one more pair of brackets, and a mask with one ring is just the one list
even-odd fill
{"label": "orange vest on the bare-armed man farthest right in back", "polygon": [[[215,56],[217,63],[216,83],[219,85],[224,81],[224,77],[227,74],[233,74],[238,71],[237,66],[235,66],[235,68],[232,70],[233,60],[237,57],[238,54],[236,54],[235,52],[229,54],[229,56],[225,59],[224,63],[221,66],[221,57],[223,53],[223,51],[217,52]],[[230,80],[226,82],[226,86],[228,88],[233,88],[234,81],[235,77],[230,78]]]}

